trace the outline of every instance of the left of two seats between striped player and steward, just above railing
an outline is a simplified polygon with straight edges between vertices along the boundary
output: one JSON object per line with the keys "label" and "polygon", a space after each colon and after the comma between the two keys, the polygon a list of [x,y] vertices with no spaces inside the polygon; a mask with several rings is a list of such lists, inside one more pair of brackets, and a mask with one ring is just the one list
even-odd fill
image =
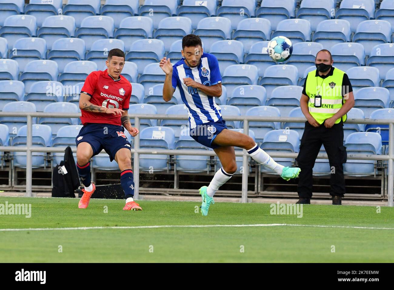
{"label": "left of two seats between striped player and steward, just above railing", "polygon": [[263,86],[243,85],[234,88],[227,105],[238,107],[241,116],[245,116],[247,110],[256,106],[265,106],[266,101],[266,89]]}

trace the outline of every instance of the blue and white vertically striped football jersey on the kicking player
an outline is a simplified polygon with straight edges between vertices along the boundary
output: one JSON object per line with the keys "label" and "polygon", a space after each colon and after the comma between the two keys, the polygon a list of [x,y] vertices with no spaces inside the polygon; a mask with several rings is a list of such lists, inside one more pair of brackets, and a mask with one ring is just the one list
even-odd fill
{"label": "blue and white vertically striped football jersey on the kicking player", "polygon": [[185,64],[182,58],[173,65],[172,86],[175,89],[179,88],[182,101],[188,108],[191,129],[204,123],[221,121],[220,107],[216,105],[215,97],[186,86],[183,79],[188,77],[206,86],[221,82],[216,56],[204,52],[200,64],[193,68]]}

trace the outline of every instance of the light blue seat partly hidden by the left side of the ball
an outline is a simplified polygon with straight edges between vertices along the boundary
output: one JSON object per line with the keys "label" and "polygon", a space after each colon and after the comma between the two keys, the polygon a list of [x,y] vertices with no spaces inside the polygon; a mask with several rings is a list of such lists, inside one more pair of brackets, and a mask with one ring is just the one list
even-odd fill
{"label": "light blue seat partly hidden by the left side of the ball", "polygon": [[266,69],[276,64],[274,60],[268,55],[267,47],[269,41],[258,41],[250,48],[249,54],[245,57],[245,64],[255,65],[258,69],[258,76],[264,76]]}

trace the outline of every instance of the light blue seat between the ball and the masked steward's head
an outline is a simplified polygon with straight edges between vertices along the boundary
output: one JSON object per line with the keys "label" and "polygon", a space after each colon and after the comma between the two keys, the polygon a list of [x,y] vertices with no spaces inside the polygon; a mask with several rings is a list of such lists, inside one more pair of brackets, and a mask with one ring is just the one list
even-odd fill
{"label": "light blue seat between the ball and the masked steward's head", "polygon": [[[299,42],[293,45],[292,56],[285,64],[296,65],[298,77],[302,78],[305,70],[314,65],[316,54],[323,49],[323,45],[317,42]],[[336,62],[335,62],[336,63]]]}

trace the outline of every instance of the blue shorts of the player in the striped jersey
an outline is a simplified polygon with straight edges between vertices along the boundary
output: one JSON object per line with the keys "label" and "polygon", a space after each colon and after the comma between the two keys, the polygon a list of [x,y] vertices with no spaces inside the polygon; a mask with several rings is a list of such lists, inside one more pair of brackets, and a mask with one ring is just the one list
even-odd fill
{"label": "blue shorts of the player in the striped jersey", "polygon": [[197,127],[190,129],[190,136],[200,144],[215,149],[220,146],[212,144],[212,141],[221,131],[223,131],[223,129],[227,129],[227,126],[226,122],[222,119],[218,122],[209,122],[204,123],[203,125],[197,125]]}

